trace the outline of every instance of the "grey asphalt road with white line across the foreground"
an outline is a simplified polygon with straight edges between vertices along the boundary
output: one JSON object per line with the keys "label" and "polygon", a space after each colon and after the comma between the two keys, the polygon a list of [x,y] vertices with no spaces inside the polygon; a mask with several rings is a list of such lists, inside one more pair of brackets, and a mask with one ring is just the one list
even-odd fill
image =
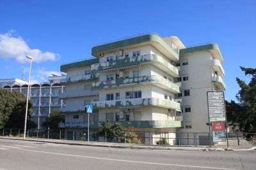
{"label": "grey asphalt road with white line across the foreground", "polygon": [[256,151],[134,150],[0,139],[3,169],[256,169]]}

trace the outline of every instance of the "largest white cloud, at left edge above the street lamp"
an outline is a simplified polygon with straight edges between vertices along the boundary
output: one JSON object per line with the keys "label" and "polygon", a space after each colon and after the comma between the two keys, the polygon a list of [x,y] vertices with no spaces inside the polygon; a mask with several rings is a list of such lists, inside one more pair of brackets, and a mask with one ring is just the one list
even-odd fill
{"label": "largest white cloud, at left edge above the street lamp", "polygon": [[46,60],[58,60],[60,55],[51,52],[42,52],[39,49],[31,49],[22,37],[15,36],[15,31],[11,30],[5,34],[0,34],[0,58],[14,58],[17,62],[28,62],[26,55],[33,57],[33,62]]}

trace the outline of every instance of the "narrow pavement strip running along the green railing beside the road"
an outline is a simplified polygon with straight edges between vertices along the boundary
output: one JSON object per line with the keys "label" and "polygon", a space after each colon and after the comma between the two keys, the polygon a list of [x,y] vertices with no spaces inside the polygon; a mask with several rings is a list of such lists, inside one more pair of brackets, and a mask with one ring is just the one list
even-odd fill
{"label": "narrow pavement strip running along the green railing beside the road", "polygon": [[58,143],[65,145],[83,145],[83,146],[100,146],[108,148],[129,148],[129,149],[143,149],[143,150],[186,150],[186,151],[238,151],[238,150],[256,150],[256,146],[250,145],[247,141],[243,141],[239,146],[236,141],[229,141],[228,148],[227,143],[220,143],[219,145],[209,146],[164,146],[164,145],[142,145],[133,143],[109,143],[109,142],[97,142],[97,141],[72,141],[61,139],[44,139],[44,138],[19,138],[10,136],[0,136],[0,139],[13,139],[13,140],[26,140],[37,141],[45,143]]}

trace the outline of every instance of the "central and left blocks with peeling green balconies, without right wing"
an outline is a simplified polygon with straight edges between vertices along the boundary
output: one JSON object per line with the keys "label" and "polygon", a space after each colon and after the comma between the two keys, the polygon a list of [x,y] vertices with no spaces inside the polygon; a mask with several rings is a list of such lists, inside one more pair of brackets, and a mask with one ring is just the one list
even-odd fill
{"label": "central and left blocks with peeling green balconies, without right wing", "polygon": [[[174,66],[179,62],[180,48],[184,45],[176,37],[162,39],[157,34],[145,34],[94,46],[92,55],[97,59],[61,66],[61,71],[67,73],[67,91],[85,90],[86,85],[91,85],[92,91],[88,92],[96,95],[88,99],[85,92],[83,97],[63,94],[67,105],[61,112],[66,113],[66,122],[60,127],[68,128],[69,133],[76,127],[73,133],[83,134],[87,127],[85,101],[91,101],[92,131],[100,122],[120,122],[140,131],[143,143],[169,138],[168,142],[174,145],[175,132],[182,127],[182,105],[175,101],[175,95],[181,93],[175,83],[180,71]],[[97,78],[84,79],[89,72],[97,74]]]}

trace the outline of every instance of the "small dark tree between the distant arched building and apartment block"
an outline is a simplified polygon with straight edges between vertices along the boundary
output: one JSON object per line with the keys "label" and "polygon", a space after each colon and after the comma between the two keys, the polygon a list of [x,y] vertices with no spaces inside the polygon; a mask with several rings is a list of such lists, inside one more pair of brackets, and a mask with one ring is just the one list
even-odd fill
{"label": "small dark tree between the distant arched building and apartment block", "polygon": [[60,114],[58,111],[52,111],[50,117],[42,122],[42,126],[50,129],[59,129],[58,124],[61,122],[65,122],[65,115]]}

